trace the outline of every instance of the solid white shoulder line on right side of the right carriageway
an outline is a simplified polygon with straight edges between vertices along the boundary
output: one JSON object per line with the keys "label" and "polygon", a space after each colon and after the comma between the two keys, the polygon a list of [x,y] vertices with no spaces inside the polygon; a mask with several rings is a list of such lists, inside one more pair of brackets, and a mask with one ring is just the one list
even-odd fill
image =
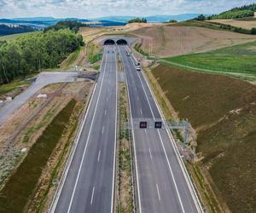
{"label": "solid white shoulder line on right side of the right carriageway", "polygon": [[[133,60],[131,60],[131,61],[132,61],[133,65],[135,66]],[[136,73],[137,73],[137,72],[136,72]],[[150,102],[149,102],[149,100],[148,100],[148,95],[147,95],[146,90],[145,90],[145,88],[144,88],[142,79],[141,79],[141,77],[140,77],[140,75],[139,75],[138,73],[137,73],[137,76],[138,76],[138,78],[140,79],[140,83],[141,83],[142,86],[143,86],[143,91],[144,91],[144,94],[145,94],[146,99],[147,99],[147,101],[148,101],[148,106],[149,106],[149,108],[150,108],[150,112],[151,112],[151,114],[152,114],[152,116],[153,116],[153,118],[154,118],[154,120],[155,120],[154,112],[153,112],[152,107],[151,107],[151,104],[150,104]],[[183,213],[185,213],[185,210],[184,210],[184,208],[183,208],[183,203],[182,203],[180,194],[179,194],[178,189],[177,189],[177,183],[176,183],[176,181],[175,181],[175,178],[174,178],[174,175],[173,175],[173,172],[172,172],[172,167],[171,167],[169,158],[168,158],[167,153],[166,153],[166,147],[164,146],[164,142],[163,142],[163,140],[162,140],[162,138],[161,138],[161,135],[160,135],[160,130],[157,130],[157,132],[158,132],[158,135],[160,136],[161,145],[162,145],[162,148],[163,148],[163,150],[164,150],[164,153],[165,153],[165,156],[166,156],[166,161],[167,161],[169,170],[170,170],[170,172],[171,172],[172,180],[173,180],[173,183],[174,183],[174,187],[175,187],[176,192],[177,192],[177,199],[178,199],[178,201],[179,201],[179,203],[180,203],[180,205],[181,205],[181,208],[182,208]]]}

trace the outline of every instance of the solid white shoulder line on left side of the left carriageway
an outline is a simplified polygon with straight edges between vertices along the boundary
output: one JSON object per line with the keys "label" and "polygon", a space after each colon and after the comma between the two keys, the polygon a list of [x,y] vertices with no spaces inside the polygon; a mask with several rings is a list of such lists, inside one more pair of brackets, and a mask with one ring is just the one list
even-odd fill
{"label": "solid white shoulder line on left side of the left carriageway", "polygon": [[83,165],[83,163],[84,163],[84,156],[85,156],[85,153],[86,153],[86,149],[87,149],[87,147],[88,147],[88,141],[89,141],[89,139],[90,139],[90,133],[91,133],[91,130],[92,130],[92,124],[94,123],[94,118],[95,118],[95,115],[96,115],[96,109],[97,109],[97,107],[98,107],[98,103],[99,103],[99,100],[100,100],[100,96],[101,96],[101,94],[102,94],[102,84],[103,84],[103,81],[104,81],[104,77],[105,77],[105,73],[106,73],[106,67],[107,67],[107,61],[108,61],[108,57],[107,57],[107,56],[108,56],[108,54],[106,55],[106,62],[105,62],[105,66],[104,66],[104,69],[103,69],[103,72],[104,72],[104,73],[103,73],[103,76],[102,76],[102,83],[101,83],[101,86],[100,86],[99,95],[98,95],[98,97],[97,97],[96,107],[95,107],[95,110],[94,110],[94,112],[93,112],[92,121],[91,121],[91,123],[90,123],[89,134],[88,134],[88,137],[87,137],[87,140],[86,140],[86,145],[85,145],[85,147],[84,147],[84,153],[83,153],[83,156],[82,156],[82,160],[81,160],[81,162],[80,162],[80,165],[79,165],[79,172],[78,172],[78,175],[77,175],[77,178],[76,178],[76,181],[75,181],[75,185],[74,185],[74,187],[73,187],[73,193],[72,193],[72,196],[71,196],[71,199],[70,199],[70,203],[69,203],[69,205],[68,205],[67,213],[69,213],[70,210],[71,210],[71,205],[72,205],[72,203],[73,203],[74,193],[75,193],[76,188],[77,188],[77,186],[78,186],[80,172],[81,172],[81,170],[82,170],[82,165]]}

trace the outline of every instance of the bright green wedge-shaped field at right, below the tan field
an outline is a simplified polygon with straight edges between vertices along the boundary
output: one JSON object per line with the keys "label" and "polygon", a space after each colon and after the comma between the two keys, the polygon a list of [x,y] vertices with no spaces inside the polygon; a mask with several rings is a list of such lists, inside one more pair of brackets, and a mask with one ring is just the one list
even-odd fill
{"label": "bright green wedge-shaped field at right, below the tan field", "polygon": [[235,45],[204,54],[182,55],[164,60],[216,72],[238,72],[256,76],[256,42]]}

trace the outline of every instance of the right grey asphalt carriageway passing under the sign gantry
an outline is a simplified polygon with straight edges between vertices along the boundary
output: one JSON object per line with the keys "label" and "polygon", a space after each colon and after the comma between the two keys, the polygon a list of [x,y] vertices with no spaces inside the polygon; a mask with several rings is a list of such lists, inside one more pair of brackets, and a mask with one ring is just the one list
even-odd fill
{"label": "right grey asphalt carriageway passing under the sign gantry", "polygon": [[[131,118],[161,118],[142,72],[135,60],[119,47],[126,74]],[[141,212],[200,212],[193,188],[184,175],[173,142],[166,130],[133,130],[138,205]]]}

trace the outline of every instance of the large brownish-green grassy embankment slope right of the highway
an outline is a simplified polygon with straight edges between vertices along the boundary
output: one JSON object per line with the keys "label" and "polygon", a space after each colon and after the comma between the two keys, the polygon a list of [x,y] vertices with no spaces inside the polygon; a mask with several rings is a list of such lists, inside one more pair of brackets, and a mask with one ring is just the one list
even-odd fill
{"label": "large brownish-green grassy embankment slope right of the highway", "polygon": [[232,212],[256,209],[256,87],[225,76],[157,66],[152,71],[179,118],[197,131],[201,169]]}

